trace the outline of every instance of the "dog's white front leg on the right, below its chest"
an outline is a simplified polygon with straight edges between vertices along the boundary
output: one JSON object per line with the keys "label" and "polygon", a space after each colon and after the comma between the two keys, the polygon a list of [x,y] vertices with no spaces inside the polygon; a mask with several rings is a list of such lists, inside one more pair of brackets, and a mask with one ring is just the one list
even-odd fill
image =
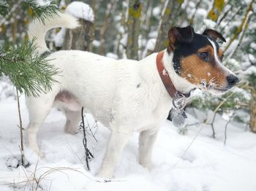
{"label": "dog's white front leg on the right, below its chest", "polygon": [[140,132],[139,163],[149,171],[151,171],[152,168],[151,157],[153,145],[157,138],[157,132],[156,130],[143,130]]}

